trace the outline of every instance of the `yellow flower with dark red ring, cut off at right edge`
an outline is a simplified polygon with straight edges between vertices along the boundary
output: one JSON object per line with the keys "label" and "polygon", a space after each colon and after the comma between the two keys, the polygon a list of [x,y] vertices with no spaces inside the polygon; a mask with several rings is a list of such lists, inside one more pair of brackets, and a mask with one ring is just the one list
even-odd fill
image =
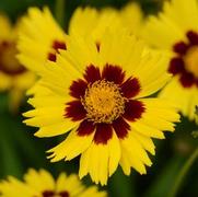
{"label": "yellow flower with dark red ring, cut off at right edge", "polygon": [[198,105],[198,2],[172,0],[151,16],[143,36],[153,47],[170,53],[167,71],[174,77],[160,96],[175,102],[183,115],[195,118]]}

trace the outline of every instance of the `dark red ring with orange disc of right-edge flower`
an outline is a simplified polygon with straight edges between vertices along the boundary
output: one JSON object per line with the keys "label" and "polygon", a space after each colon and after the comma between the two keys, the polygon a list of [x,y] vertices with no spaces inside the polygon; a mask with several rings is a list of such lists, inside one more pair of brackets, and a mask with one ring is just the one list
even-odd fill
{"label": "dark red ring with orange disc of right-edge flower", "polygon": [[178,42],[173,46],[176,56],[170,61],[168,72],[178,76],[184,88],[198,88],[198,33],[188,31],[187,42]]}

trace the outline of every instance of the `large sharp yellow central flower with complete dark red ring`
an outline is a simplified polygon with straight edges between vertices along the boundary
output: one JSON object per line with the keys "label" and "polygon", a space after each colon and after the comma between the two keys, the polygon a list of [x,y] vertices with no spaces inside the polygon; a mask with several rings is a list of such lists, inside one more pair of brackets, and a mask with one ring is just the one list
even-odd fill
{"label": "large sharp yellow central flower with complete dark red ring", "polygon": [[[129,175],[150,166],[151,138],[174,131],[179,115],[164,100],[148,97],[170,79],[166,58],[148,51],[125,31],[106,32],[100,51],[93,39],[68,39],[70,47],[40,72],[50,96],[35,95],[24,123],[39,127],[37,137],[69,134],[48,151],[53,162],[81,155],[79,175],[107,183],[118,164]],[[42,93],[40,93],[42,94]]]}

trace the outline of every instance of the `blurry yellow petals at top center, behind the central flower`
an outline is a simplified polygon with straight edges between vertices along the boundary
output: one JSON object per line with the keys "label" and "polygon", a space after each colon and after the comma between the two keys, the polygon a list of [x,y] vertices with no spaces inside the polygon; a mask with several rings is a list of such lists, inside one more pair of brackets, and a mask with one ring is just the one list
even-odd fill
{"label": "blurry yellow petals at top center, behind the central flower", "polygon": [[128,3],[120,10],[105,8],[78,8],[69,23],[69,34],[78,33],[81,36],[91,36],[97,47],[106,32],[106,28],[117,32],[128,28],[132,34],[139,34],[143,24],[143,12],[138,3]]}

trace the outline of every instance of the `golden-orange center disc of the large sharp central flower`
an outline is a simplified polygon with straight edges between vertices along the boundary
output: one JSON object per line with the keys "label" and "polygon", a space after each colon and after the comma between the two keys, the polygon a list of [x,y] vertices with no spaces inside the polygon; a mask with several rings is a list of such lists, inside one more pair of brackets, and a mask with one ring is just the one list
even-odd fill
{"label": "golden-orange center disc of the large sharp central flower", "polygon": [[90,84],[81,99],[89,120],[107,124],[124,114],[125,101],[118,85],[105,80]]}

